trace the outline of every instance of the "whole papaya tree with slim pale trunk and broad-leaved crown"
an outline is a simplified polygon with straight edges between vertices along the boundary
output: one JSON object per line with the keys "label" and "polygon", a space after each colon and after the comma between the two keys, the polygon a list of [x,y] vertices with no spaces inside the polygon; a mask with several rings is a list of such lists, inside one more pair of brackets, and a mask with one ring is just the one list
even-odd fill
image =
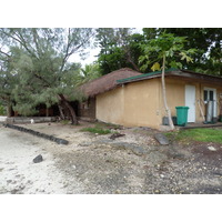
{"label": "whole papaya tree with slim pale trunk and broad-leaved crown", "polygon": [[[141,62],[147,62],[147,65],[152,65],[153,71],[162,69],[162,95],[167,115],[169,118],[169,124],[171,130],[174,129],[171,110],[169,109],[165,92],[165,68],[182,68],[181,61],[193,62],[189,54],[195,52],[194,49],[184,50],[184,37],[174,37],[171,33],[163,33],[157,39],[152,39],[148,44],[143,44],[145,56],[140,57]],[[155,58],[152,58],[152,57]],[[143,64],[143,69],[147,69]]]}

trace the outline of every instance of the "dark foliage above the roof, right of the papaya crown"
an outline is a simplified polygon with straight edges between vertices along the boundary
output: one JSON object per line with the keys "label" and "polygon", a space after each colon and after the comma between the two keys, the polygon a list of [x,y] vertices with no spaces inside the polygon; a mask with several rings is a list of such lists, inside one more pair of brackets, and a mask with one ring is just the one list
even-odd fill
{"label": "dark foliage above the roof, right of the papaya crown", "polygon": [[185,64],[188,69],[208,74],[222,75],[222,29],[221,28],[161,28],[159,33],[173,33],[186,37],[184,49],[196,49],[193,63]]}

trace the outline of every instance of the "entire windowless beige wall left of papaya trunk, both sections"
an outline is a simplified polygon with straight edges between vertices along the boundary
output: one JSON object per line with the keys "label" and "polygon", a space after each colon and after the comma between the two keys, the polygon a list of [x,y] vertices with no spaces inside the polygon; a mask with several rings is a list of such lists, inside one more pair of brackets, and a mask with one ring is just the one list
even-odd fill
{"label": "entire windowless beige wall left of papaya trunk, both sections", "polygon": [[97,119],[125,127],[160,124],[158,79],[132,82],[97,97]]}

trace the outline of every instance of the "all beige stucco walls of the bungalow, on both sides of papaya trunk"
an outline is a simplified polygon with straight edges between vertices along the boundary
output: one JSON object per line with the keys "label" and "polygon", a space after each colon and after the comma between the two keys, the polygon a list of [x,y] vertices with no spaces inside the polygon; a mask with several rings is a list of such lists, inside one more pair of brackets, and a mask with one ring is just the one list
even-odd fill
{"label": "all beige stucco walls of the bungalow, on both sides of papaya trunk", "polygon": [[[203,89],[216,89],[216,95],[222,93],[222,87],[193,80],[165,78],[168,104],[172,115],[176,115],[175,107],[185,105],[185,85],[195,85],[195,120],[202,122],[198,101],[203,101]],[[204,111],[204,104],[201,102]],[[103,122],[124,127],[150,127],[160,129],[162,118],[167,115],[161,79],[131,82],[105,93],[97,95],[97,119]],[[219,105],[218,105],[219,114]]]}

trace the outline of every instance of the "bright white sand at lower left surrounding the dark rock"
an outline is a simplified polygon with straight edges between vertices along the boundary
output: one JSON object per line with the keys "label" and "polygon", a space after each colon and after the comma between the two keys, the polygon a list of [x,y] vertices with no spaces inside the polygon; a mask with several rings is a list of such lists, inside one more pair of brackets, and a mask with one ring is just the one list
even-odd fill
{"label": "bright white sand at lower left surrounding the dark rock", "polygon": [[[65,193],[48,141],[0,127],[0,193]],[[41,163],[33,158],[43,155]]]}

